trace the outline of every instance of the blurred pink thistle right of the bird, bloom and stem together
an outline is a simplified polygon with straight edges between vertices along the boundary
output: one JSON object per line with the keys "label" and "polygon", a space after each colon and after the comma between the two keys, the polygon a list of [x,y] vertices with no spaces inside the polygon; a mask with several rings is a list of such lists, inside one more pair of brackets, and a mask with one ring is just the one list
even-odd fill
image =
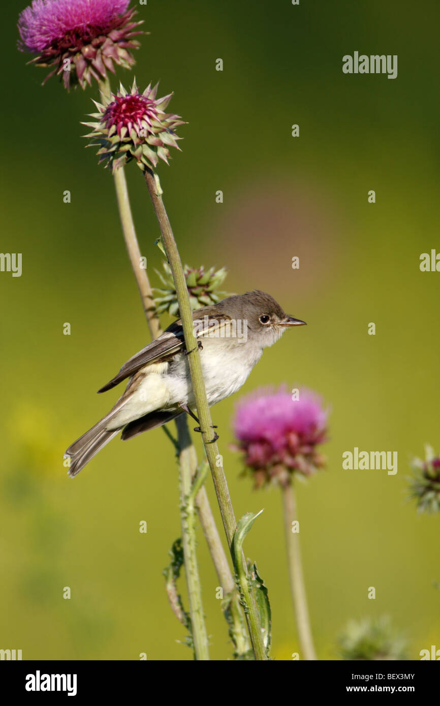
{"label": "blurred pink thistle right of the bird, bloom and stem together", "polygon": [[283,496],[287,563],[299,644],[304,659],[316,659],[299,547],[299,522],[294,478],[322,468],[325,458],[316,446],[326,441],[327,412],[318,395],[300,389],[263,389],[244,397],[233,421],[237,444],[244,455],[244,474],[256,489],[277,485]]}

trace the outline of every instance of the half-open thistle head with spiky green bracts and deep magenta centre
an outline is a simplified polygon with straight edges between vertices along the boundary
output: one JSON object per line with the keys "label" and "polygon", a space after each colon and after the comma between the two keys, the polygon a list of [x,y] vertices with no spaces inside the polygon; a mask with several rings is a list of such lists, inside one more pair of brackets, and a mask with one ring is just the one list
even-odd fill
{"label": "half-open thistle head with spiky green bracts and deep magenta centre", "polygon": [[107,162],[112,172],[125,162],[135,159],[138,167],[155,169],[159,159],[168,164],[169,147],[176,147],[180,140],[174,128],[184,125],[179,115],[165,113],[172,93],[163,98],[156,98],[157,84],[151,84],[143,93],[138,91],[136,80],[131,92],[121,84],[119,91],[105,98],[102,105],[93,101],[99,112],[90,114],[97,122],[83,123],[93,128],[86,137],[94,138],[90,146],[100,149],[100,163]]}

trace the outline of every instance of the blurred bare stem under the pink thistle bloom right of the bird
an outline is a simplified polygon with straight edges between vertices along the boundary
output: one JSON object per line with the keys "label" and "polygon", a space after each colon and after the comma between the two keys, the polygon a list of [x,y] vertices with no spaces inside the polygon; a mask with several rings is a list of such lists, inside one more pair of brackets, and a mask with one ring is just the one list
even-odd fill
{"label": "blurred bare stem under the pink thistle bloom right of the bird", "polygon": [[311,636],[309,611],[307,609],[306,588],[302,572],[299,532],[293,532],[293,522],[297,522],[297,501],[293,483],[283,485],[283,510],[287,547],[287,563],[289,565],[290,590],[292,592],[293,609],[297,623],[299,647],[304,659],[316,659],[316,652]]}

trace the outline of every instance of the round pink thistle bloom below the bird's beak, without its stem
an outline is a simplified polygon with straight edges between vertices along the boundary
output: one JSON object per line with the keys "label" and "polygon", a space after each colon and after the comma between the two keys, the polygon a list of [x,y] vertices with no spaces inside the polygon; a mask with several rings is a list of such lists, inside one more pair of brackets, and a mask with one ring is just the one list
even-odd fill
{"label": "round pink thistle bloom below the bird's beak, without its stem", "polygon": [[327,414],[318,395],[304,388],[297,400],[282,386],[258,390],[239,402],[235,448],[244,451],[256,488],[270,481],[287,486],[294,472],[308,476],[323,467],[325,458],[316,445],[326,441]]}

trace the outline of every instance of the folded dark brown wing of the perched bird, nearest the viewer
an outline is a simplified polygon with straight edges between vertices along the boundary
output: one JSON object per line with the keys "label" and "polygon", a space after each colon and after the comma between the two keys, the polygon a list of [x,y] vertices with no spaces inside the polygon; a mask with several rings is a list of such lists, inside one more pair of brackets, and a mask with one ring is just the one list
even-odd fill
{"label": "folded dark brown wing of the perched bird, nearest the viewer", "polygon": [[[198,322],[196,328],[194,328],[195,340],[197,340],[206,335],[208,331],[211,333],[216,328],[219,328],[222,323],[230,320],[230,316],[225,316],[224,313],[215,309],[215,306],[204,306],[203,309],[193,311],[193,320]],[[126,361],[119,373],[107,385],[100,388],[98,393],[105,393],[107,390],[111,390],[116,385],[119,385],[121,381],[143,368],[143,366],[165,361],[167,358],[184,350],[184,330],[179,319],[174,321],[161,336]]]}

